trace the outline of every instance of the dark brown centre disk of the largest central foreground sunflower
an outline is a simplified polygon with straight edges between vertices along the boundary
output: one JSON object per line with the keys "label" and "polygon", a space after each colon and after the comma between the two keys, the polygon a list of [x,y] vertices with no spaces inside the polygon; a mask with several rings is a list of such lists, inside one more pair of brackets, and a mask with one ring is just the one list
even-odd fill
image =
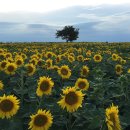
{"label": "dark brown centre disk of the largest central foreground sunflower", "polygon": [[65,96],[65,102],[69,105],[74,105],[78,101],[78,97],[75,92],[70,92]]}

